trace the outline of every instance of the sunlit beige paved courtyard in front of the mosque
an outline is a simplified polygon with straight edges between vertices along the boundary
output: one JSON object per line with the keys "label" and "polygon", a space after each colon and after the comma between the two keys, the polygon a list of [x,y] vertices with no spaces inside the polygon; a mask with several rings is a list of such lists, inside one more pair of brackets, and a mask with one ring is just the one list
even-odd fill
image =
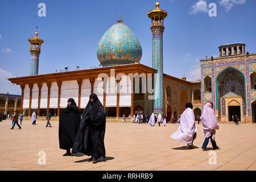
{"label": "sunlit beige paved courtyard in front of the mosque", "polygon": [[[215,150],[209,142],[208,151],[201,151],[204,142],[202,125],[194,145],[188,150],[185,144],[169,137],[179,124],[167,123],[166,127],[151,127],[137,123],[106,123],[106,159],[97,164],[88,162],[89,156],[62,156],[59,148],[59,123],[23,121],[22,130],[11,121],[0,122],[0,170],[256,170],[256,125],[220,123]],[[42,155],[46,154],[46,164]],[[209,160],[209,158],[211,158]],[[216,160],[214,160],[216,159]],[[213,164],[209,164],[213,163]],[[216,163],[214,163],[216,162]]]}

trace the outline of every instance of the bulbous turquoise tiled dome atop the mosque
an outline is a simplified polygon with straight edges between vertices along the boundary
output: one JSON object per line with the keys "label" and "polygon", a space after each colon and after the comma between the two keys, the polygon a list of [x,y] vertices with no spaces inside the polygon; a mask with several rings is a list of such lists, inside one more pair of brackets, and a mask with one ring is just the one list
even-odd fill
{"label": "bulbous turquoise tiled dome atop the mosque", "polygon": [[110,27],[98,43],[97,57],[102,67],[139,63],[141,56],[139,40],[122,22]]}

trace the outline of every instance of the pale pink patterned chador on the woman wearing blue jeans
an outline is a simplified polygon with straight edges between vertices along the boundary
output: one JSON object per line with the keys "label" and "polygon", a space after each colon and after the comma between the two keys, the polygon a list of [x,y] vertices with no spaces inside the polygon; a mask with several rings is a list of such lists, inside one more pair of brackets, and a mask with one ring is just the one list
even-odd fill
{"label": "pale pink patterned chador on the woman wearing blue jeans", "polygon": [[201,115],[200,119],[203,123],[205,137],[210,137],[210,135],[213,135],[212,139],[214,140],[216,129],[218,130],[219,125],[212,103],[207,102],[207,104],[204,105],[203,114]]}

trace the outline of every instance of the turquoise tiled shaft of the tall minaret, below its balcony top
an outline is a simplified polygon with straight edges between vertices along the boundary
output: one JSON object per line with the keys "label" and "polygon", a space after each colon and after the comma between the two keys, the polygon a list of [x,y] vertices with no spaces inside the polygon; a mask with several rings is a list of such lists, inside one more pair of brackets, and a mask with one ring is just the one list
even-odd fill
{"label": "turquoise tiled shaft of the tall minaret, below its balcony top", "polygon": [[152,68],[156,69],[158,73],[155,86],[155,95],[158,98],[154,100],[154,113],[163,113],[163,30],[163,28],[151,27]]}

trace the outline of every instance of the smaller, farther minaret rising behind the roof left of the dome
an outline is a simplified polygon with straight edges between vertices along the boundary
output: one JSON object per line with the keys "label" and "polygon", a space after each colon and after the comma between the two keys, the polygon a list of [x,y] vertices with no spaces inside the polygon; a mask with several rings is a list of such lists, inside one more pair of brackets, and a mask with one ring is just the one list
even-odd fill
{"label": "smaller, farther minaret rising behind the roof left of the dome", "polygon": [[28,39],[30,42],[31,66],[30,75],[38,75],[39,55],[41,52],[41,44],[43,40],[38,38],[38,27],[36,27],[35,37]]}

